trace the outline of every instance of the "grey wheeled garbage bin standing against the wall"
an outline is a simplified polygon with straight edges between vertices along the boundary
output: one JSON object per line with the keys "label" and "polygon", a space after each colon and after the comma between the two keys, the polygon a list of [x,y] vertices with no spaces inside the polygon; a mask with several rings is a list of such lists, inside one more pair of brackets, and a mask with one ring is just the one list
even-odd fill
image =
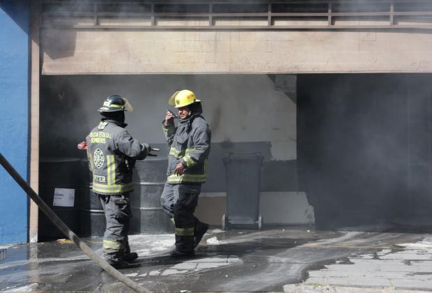
{"label": "grey wheeled garbage bin standing against the wall", "polygon": [[259,214],[261,153],[230,153],[223,159],[226,170],[226,214],[222,229],[263,227]]}

